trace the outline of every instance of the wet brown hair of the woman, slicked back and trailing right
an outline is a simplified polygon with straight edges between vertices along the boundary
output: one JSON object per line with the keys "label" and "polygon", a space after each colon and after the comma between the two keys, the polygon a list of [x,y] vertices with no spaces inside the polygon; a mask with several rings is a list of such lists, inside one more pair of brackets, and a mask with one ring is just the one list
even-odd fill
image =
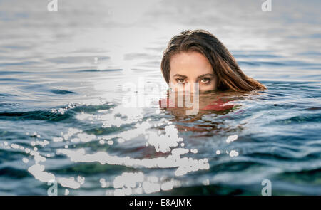
{"label": "wet brown hair of the woman, slicked back and trailing right", "polygon": [[218,90],[267,90],[265,85],[243,73],[235,58],[218,38],[200,29],[185,30],[170,39],[161,61],[166,83],[170,82],[170,58],[177,53],[188,51],[202,53],[208,58],[214,73],[218,76]]}

